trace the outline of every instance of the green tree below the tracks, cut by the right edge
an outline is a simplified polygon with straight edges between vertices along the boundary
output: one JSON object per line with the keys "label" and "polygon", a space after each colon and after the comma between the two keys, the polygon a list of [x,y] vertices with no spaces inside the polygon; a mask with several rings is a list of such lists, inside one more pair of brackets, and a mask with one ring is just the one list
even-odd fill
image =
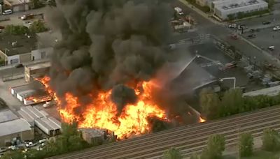
{"label": "green tree below the tracks, cut by the right edge", "polygon": [[279,151],[280,135],[274,129],[266,129],[262,135],[262,149],[265,151]]}

